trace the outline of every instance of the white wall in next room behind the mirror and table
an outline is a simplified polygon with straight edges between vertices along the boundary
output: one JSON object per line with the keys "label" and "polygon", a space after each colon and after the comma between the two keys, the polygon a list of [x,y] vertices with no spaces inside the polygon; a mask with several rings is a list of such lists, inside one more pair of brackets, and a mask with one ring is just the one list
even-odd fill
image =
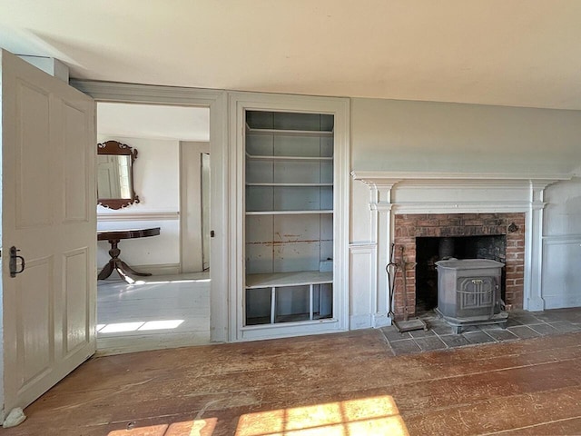
{"label": "white wall in next room behind the mirror and table", "polygon": [[[137,149],[133,166],[135,193],[141,203],[120,210],[97,206],[99,230],[161,227],[160,235],[122,241],[121,258],[130,266],[147,267],[148,272],[177,272],[180,263],[180,168],[179,141],[98,135],[103,142],[114,139]],[[125,218],[123,218],[123,215]],[[109,260],[110,245],[99,242],[97,266]]]}

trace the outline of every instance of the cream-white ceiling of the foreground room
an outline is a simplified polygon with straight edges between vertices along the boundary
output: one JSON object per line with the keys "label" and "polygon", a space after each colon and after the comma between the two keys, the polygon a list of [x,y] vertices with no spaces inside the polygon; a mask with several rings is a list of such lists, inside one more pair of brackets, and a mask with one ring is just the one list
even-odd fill
{"label": "cream-white ceiling of the foreground room", "polygon": [[0,0],[75,78],[581,109],[580,0]]}

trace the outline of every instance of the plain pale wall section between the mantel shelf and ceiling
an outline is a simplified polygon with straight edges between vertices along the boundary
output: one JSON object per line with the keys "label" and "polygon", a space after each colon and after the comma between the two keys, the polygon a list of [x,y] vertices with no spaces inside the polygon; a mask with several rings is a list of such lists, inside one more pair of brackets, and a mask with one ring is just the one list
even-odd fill
{"label": "plain pale wall section between the mantel shelf and ceiling", "polygon": [[355,170],[568,173],[579,138],[581,111],[351,100]]}

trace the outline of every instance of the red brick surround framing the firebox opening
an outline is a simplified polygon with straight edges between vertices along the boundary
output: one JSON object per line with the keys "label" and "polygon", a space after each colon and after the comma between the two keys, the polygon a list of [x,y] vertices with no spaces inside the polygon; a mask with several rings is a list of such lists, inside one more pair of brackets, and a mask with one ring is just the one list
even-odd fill
{"label": "red brick surround framing the firebox opening", "polygon": [[[421,213],[395,214],[395,261],[400,261],[400,247],[406,261],[408,312],[416,307],[416,238],[506,235],[505,303],[512,309],[523,308],[525,272],[525,213]],[[515,225],[512,225],[512,224]],[[395,279],[396,319],[403,315],[403,276]]]}

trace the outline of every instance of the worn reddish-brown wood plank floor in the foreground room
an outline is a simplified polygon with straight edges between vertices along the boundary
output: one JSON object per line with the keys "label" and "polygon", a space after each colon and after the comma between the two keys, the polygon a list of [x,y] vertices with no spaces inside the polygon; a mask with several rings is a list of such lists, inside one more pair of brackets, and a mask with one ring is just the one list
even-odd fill
{"label": "worn reddish-brown wood plank floor in the foreground room", "polygon": [[395,356],[379,330],[98,357],[2,436],[581,434],[581,332]]}

